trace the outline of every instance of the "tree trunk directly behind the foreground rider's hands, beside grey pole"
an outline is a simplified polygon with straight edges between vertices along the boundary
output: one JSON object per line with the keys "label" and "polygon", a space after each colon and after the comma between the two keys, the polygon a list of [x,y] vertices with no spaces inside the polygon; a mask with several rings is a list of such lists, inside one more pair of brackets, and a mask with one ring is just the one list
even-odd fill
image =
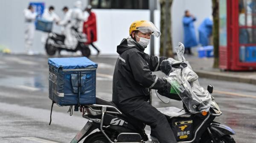
{"label": "tree trunk directly behind the foreground rider's hands, beside grey pole", "polygon": [[[162,33],[160,37],[160,56],[166,56],[166,57],[173,57],[172,20],[171,20],[172,19],[171,17],[172,1],[173,0],[160,0],[160,6],[161,6],[160,32]],[[167,9],[166,9],[166,4],[168,5]],[[165,52],[163,51],[164,45],[166,46]],[[166,55],[164,55],[164,53]]]}

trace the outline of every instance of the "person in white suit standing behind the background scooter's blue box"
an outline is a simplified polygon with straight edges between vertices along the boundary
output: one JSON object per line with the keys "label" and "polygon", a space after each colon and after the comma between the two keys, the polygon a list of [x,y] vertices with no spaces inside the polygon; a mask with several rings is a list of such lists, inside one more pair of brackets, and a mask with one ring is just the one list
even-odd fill
{"label": "person in white suit standing behind the background scooter's blue box", "polygon": [[[44,20],[48,20],[48,21],[51,21],[51,22],[58,22],[58,21],[61,20],[60,17],[58,17],[58,15],[54,13],[54,7],[53,6],[49,6],[48,10],[47,9],[44,10],[42,18]],[[41,37],[41,42],[43,44],[46,42],[47,37],[48,37],[48,33],[44,32],[42,34],[42,37]]]}

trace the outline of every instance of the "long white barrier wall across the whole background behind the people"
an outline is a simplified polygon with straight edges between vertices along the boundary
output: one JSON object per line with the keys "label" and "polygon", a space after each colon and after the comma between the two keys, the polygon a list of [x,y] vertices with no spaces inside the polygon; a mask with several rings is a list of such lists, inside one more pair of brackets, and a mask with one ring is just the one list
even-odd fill
{"label": "long white barrier wall across the whole background behind the people", "polygon": [[[63,6],[73,7],[76,0],[44,0],[46,8],[55,6],[55,13],[63,17]],[[33,2],[42,2],[33,0]],[[87,0],[82,0],[87,3]],[[29,4],[29,0],[0,0],[0,45],[5,45],[12,53],[24,53],[24,16],[23,9]],[[183,42],[182,18],[184,11],[188,9],[197,17],[195,27],[205,17],[211,15],[211,0],[174,0],[172,4],[172,38],[173,45]],[[116,45],[128,36],[129,26],[135,20],[149,20],[149,10],[119,10],[119,9],[94,9],[97,16],[98,41],[95,43],[102,54],[117,54]],[[160,11],[154,11],[154,23],[160,27]],[[54,26],[53,31],[60,32],[60,27]],[[155,54],[159,54],[159,38],[155,38]],[[149,53],[150,45],[145,52]],[[92,53],[96,53],[92,49]],[[41,44],[41,32],[35,32],[33,50],[44,53]]]}

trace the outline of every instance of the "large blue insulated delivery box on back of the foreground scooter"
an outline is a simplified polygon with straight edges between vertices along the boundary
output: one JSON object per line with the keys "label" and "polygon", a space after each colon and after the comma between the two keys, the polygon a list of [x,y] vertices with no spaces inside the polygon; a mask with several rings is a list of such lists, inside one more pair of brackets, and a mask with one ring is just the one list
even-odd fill
{"label": "large blue insulated delivery box on back of the foreground scooter", "polygon": [[49,98],[59,106],[96,102],[97,64],[86,57],[49,58]]}

